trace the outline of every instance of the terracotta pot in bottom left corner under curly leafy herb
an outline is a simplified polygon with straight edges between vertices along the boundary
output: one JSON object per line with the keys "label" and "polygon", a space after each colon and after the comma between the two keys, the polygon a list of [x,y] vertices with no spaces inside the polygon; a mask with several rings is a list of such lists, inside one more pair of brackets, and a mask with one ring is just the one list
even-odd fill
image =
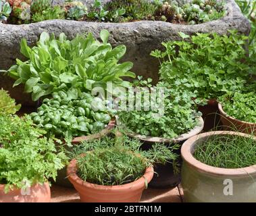
{"label": "terracotta pot in bottom left corner under curly leafy herb", "polygon": [[7,194],[4,192],[5,185],[0,184],[0,202],[51,202],[51,190],[49,183],[34,184],[24,194],[21,189],[14,188],[9,190]]}

